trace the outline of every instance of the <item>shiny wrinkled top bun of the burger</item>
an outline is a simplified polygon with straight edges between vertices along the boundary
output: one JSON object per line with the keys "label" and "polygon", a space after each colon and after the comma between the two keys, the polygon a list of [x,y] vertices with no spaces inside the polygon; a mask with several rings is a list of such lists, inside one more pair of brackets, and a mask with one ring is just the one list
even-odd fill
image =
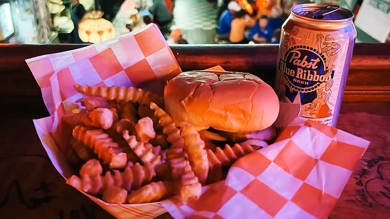
{"label": "shiny wrinkled top bun of the burger", "polygon": [[238,72],[182,72],[165,86],[164,101],[176,124],[188,122],[197,130],[262,130],[279,113],[279,100],[271,86],[252,74]]}

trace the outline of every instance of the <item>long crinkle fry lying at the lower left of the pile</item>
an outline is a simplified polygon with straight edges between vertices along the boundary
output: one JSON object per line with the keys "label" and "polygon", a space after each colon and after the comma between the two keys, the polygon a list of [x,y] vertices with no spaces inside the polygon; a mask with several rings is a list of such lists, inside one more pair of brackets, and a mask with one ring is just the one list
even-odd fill
{"label": "long crinkle fry lying at the lower left of the pile", "polygon": [[156,172],[149,163],[144,166],[136,163],[133,168],[125,168],[124,172],[112,171],[113,174],[107,171],[104,176],[84,174],[79,178],[73,175],[66,180],[66,183],[76,189],[96,195],[103,194],[105,189],[110,186],[120,187],[126,191],[136,190],[142,185],[150,183],[152,178],[156,176]]}

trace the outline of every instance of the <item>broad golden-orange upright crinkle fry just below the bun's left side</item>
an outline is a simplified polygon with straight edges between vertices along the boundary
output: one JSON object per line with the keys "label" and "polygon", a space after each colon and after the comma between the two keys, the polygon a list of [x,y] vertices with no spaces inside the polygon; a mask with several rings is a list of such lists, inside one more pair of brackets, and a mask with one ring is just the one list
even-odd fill
{"label": "broad golden-orange upright crinkle fry just below the bun's left side", "polygon": [[186,122],[180,124],[180,131],[184,138],[184,150],[188,154],[191,168],[199,178],[199,182],[205,185],[209,171],[209,161],[207,160],[207,151],[204,149],[204,141],[200,138],[195,127]]}

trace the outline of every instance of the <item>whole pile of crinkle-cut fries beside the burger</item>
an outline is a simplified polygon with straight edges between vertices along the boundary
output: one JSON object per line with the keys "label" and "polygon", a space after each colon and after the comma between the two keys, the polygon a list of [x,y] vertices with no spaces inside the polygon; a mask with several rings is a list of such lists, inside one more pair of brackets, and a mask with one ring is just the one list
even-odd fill
{"label": "whole pile of crinkle-cut fries beside the burger", "polygon": [[[260,148],[226,140],[188,123],[175,124],[164,98],[132,87],[74,85],[85,109],[63,117],[80,175],[67,184],[107,203],[199,198],[202,185],[222,180],[239,158]],[[275,137],[275,136],[274,136]],[[223,142],[223,141],[222,141]]]}

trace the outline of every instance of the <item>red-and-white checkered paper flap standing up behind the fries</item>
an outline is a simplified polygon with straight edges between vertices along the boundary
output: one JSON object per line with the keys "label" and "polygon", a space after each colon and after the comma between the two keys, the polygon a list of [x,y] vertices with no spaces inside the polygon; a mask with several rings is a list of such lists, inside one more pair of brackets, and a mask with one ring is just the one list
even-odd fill
{"label": "red-and-white checkered paper flap standing up behind the fries", "polygon": [[152,88],[151,92],[163,95],[167,80],[181,72],[154,24],[108,41],[26,62],[52,116],[61,102],[78,95],[74,83]]}

